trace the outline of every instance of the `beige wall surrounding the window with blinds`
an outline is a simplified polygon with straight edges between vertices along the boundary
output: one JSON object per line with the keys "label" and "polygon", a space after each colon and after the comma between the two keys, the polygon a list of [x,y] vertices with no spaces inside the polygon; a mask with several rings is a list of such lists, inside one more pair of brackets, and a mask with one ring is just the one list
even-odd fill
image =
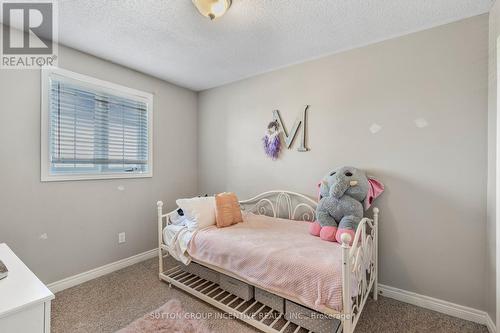
{"label": "beige wall surrounding the window with blinds", "polygon": [[197,193],[196,93],[65,47],[59,65],[154,93],[154,177],[41,183],[40,72],[0,70],[0,243],[46,283],[157,247],[156,201]]}

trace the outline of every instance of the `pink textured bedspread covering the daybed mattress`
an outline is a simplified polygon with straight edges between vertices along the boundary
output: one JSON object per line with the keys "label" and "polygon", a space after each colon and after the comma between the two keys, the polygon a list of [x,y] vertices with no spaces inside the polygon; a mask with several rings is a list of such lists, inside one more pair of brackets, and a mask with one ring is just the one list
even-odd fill
{"label": "pink textured bedspread covering the daybed mattress", "polygon": [[199,230],[188,253],[318,311],[341,311],[341,247],[311,236],[308,225],[247,214],[243,223]]}

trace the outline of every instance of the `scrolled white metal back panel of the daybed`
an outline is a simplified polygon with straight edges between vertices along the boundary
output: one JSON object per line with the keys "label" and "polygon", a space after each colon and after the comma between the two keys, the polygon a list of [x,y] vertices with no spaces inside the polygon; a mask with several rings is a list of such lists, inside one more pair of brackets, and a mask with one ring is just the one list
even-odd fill
{"label": "scrolled white metal back panel of the daybed", "polygon": [[268,191],[240,201],[244,212],[299,221],[314,221],[317,205],[313,199],[290,191]]}

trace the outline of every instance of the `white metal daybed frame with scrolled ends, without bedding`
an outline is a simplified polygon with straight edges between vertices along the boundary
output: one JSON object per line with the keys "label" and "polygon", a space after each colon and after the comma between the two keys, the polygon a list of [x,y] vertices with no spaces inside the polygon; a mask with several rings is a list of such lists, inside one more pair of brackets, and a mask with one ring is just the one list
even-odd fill
{"label": "white metal daybed frame with scrolled ends, without bedding", "polygon": [[[252,212],[259,215],[267,215],[271,217],[284,217],[292,220],[314,221],[317,202],[299,193],[290,191],[269,191],[257,195],[249,200],[240,201],[241,209],[243,211]],[[256,319],[254,315],[249,316],[247,312],[256,305],[257,302],[240,310],[243,303],[234,306],[232,303],[237,303],[235,299],[229,303],[225,300],[230,296],[227,295],[223,299],[217,299],[219,296],[227,294],[219,292],[221,290],[215,283],[203,280],[195,275],[183,272],[179,266],[164,270],[163,258],[168,256],[168,247],[163,243],[163,228],[170,223],[169,216],[176,212],[173,210],[169,213],[163,213],[163,202],[157,202],[158,210],[158,256],[159,256],[159,277],[161,280],[168,282],[170,285],[175,285],[190,294],[212,304],[219,309],[237,317],[240,320],[258,328],[263,332],[276,333],[283,332],[290,324],[287,322],[283,327],[278,329],[274,328],[279,318],[276,318],[270,324],[264,324],[264,319]],[[359,320],[361,311],[366,303],[368,295],[373,287],[373,298],[377,300],[378,294],[378,208],[373,209],[373,219],[363,218],[359,223],[358,229],[354,236],[353,245],[349,246],[350,236],[347,234],[342,235],[342,303],[343,311],[335,311],[333,309],[326,309],[323,313],[330,315],[341,321],[341,325],[337,332],[352,333]],[[193,260],[196,262],[196,260]],[[219,273],[226,274],[242,280],[241,277],[235,276],[230,272],[226,272],[220,268],[209,266],[204,263],[199,263],[207,266]],[[357,281],[357,285],[352,285],[353,281]],[[248,282],[247,282],[248,283]],[[249,283],[252,285],[251,283]],[[215,288],[214,293],[205,293],[206,290]],[[261,288],[261,287],[258,287]],[[357,289],[356,293],[352,293],[353,288]],[[273,294],[276,292],[269,291]],[[350,295],[357,295],[350,297]],[[283,295],[279,295],[283,297]],[[287,298],[287,297],[283,297]],[[288,297],[288,299],[290,299]],[[300,303],[298,300],[292,301]],[[302,304],[304,305],[304,304]],[[304,305],[306,306],[306,305]],[[264,308],[262,306],[258,311]],[[252,311],[252,310],[250,310]],[[269,313],[271,313],[269,311]],[[269,314],[268,313],[268,314]],[[279,317],[282,317],[280,314]],[[297,327],[295,332],[298,332],[300,327]]]}

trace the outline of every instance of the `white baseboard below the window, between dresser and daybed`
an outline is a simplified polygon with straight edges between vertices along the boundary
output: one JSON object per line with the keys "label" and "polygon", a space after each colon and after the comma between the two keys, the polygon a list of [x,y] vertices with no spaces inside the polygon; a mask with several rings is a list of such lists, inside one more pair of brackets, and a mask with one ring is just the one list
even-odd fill
{"label": "white baseboard below the window, between dresser and daybed", "polygon": [[52,291],[53,293],[57,293],[59,291],[62,291],[67,288],[71,288],[74,286],[77,286],[81,283],[93,280],[95,278],[98,278],[100,276],[112,273],[114,271],[117,271],[119,269],[125,268],[127,266],[136,264],[138,262],[151,259],[153,257],[156,257],[158,255],[158,250],[157,249],[152,249],[143,253],[136,254],[132,257],[128,257],[125,259],[121,259],[115,262],[112,262],[110,264],[97,267],[94,269],[91,269],[90,271],[83,272],[77,275],[73,275],[70,277],[67,277],[65,279],[50,283],[47,285],[47,287]]}

